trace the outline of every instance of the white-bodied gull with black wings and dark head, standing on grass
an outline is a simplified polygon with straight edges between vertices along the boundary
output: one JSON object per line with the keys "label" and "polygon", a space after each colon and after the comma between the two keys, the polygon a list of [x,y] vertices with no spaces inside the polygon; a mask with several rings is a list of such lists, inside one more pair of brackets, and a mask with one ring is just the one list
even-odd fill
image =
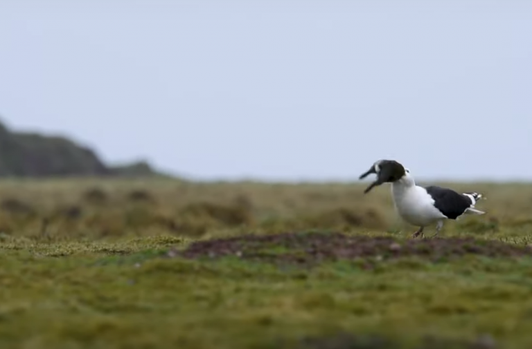
{"label": "white-bodied gull with black wings and dark head, standing on grass", "polygon": [[436,236],[446,219],[456,220],[465,214],[486,213],[475,209],[477,201],[483,198],[481,194],[474,192],[459,194],[452,189],[436,185],[420,187],[416,185],[410,170],[396,160],[378,160],[368,171],[360,175],[360,179],[372,173],[377,175],[377,179],[364,190],[364,194],[373,187],[391,182],[393,205],[398,214],[407,223],[419,227],[412,235],[413,238],[424,236],[423,229],[434,222],[436,222],[436,234],[434,234]]}

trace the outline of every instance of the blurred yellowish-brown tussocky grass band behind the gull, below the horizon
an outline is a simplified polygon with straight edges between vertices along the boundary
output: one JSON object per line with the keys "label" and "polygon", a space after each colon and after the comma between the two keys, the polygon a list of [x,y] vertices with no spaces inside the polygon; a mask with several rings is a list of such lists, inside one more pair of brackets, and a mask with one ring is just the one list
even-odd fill
{"label": "blurred yellowish-brown tussocky grass band behind the gull, below the horizon", "polygon": [[[488,212],[486,216],[447,223],[447,236],[495,237],[506,236],[505,229],[532,229],[531,186],[443,185],[459,191],[475,189],[488,197],[479,202]],[[344,232],[353,228],[371,232],[413,229],[397,224],[388,190],[364,196],[363,189],[363,185],[206,185],[171,180],[148,184],[135,180],[10,181],[0,185],[0,228],[7,234],[29,236],[39,232],[44,222],[51,235],[172,232],[195,237],[242,227],[270,232],[309,227]],[[140,216],[143,218],[132,218]]]}

